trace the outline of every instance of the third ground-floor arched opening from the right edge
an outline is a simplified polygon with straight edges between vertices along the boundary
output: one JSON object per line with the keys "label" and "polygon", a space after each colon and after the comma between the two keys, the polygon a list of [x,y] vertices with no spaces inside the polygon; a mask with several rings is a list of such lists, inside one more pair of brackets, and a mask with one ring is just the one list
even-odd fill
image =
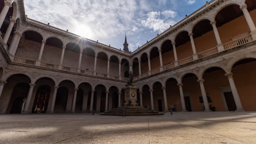
{"label": "third ground-floor arched opening from the right edge", "polygon": [[187,111],[203,111],[205,107],[200,103],[202,96],[198,78],[195,74],[189,73],[183,76],[183,94]]}

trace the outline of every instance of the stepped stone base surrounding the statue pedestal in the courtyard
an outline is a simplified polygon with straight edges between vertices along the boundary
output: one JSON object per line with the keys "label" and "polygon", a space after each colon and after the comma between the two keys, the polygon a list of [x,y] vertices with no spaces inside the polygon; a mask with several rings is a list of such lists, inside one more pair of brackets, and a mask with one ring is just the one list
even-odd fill
{"label": "stepped stone base surrounding the statue pedestal in the courtyard", "polygon": [[164,115],[164,113],[159,113],[158,111],[149,110],[143,106],[121,106],[113,110],[101,113],[103,116],[159,116]]}

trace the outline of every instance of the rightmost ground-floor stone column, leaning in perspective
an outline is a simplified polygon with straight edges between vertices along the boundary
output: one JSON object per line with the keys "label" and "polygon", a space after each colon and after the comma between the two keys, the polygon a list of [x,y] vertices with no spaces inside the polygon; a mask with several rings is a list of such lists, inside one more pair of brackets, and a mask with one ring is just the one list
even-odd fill
{"label": "rightmost ground-floor stone column, leaning in perspective", "polygon": [[225,74],[225,76],[227,76],[229,79],[230,88],[231,88],[231,91],[232,91],[232,94],[233,94],[233,97],[234,97],[234,100],[236,103],[236,111],[245,111],[245,110],[243,110],[243,106],[242,106],[241,100],[239,98],[235,82],[233,80],[233,74],[227,73],[227,74]]}

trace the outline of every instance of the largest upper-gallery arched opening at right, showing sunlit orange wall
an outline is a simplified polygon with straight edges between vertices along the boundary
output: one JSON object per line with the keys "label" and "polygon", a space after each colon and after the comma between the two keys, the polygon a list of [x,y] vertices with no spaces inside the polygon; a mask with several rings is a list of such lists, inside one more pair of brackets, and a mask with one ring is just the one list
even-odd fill
{"label": "largest upper-gallery arched opening at right, showing sunlit orange wall", "polygon": [[215,21],[223,44],[249,35],[250,29],[239,5],[224,7],[216,15]]}

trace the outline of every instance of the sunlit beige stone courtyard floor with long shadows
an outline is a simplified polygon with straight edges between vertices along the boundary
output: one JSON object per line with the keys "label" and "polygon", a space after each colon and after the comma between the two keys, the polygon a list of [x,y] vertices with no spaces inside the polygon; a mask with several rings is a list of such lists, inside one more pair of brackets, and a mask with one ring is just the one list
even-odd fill
{"label": "sunlit beige stone courtyard floor with long shadows", "polygon": [[0,115],[0,143],[256,143],[256,112]]}

